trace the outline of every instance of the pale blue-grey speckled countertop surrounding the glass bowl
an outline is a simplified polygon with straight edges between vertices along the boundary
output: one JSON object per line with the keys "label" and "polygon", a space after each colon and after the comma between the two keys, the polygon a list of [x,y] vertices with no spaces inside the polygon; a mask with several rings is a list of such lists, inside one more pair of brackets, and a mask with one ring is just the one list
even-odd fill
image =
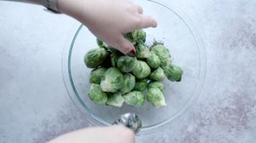
{"label": "pale blue-grey speckled countertop surrounding the glass bowl", "polygon": [[[256,1],[179,0],[201,32],[207,73],[198,101],[168,131],[137,142],[256,142]],[[45,142],[90,126],[69,99],[61,54],[74,20],[0,1],[0,142]]]}

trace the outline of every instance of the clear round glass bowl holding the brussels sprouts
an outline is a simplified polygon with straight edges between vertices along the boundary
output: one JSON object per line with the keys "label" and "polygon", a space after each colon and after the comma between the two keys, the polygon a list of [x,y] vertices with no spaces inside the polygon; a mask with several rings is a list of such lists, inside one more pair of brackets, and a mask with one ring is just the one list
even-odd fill
{"label": "clear round glass bowl holding the brussels sprouts", "polygon": [[171,52],[174,65],[183,70],[181,82],[163,81],[166,107],[156,108],[149,103],[141,107],[109,107],[95,105],[88,97],[90,83],[89,68],[84,64],[84,55],[96,48],[96,37],[80,23],[74,25],[67,38],[63,51],[63,80],[74,104],[85,118],[96,126],[110,126],[114,120],[124,113],[135,113],[142,120],[139,134],[158,131],[166,123],[195,103],[206,75],[206,53],[201,36],[190,19],[171,3],[163,0],[137,0],[144,13],[158,21],[158,28],[147,28],[147,44],[154,40],[163,41]]}

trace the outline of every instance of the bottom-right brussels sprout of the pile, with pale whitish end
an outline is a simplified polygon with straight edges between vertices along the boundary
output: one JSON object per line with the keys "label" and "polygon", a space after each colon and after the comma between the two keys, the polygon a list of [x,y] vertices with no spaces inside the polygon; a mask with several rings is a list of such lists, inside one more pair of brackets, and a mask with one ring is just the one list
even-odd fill
{"label": "bottom-right brussels sprout of the pile, with pale whitish end", "polygon": [[150,104],[152,104],[155,107],[166,106],[166,101],[163,96],[163,92],[156,87],[148,89],[146,97],[147,97],[147,101],[150,102]]}

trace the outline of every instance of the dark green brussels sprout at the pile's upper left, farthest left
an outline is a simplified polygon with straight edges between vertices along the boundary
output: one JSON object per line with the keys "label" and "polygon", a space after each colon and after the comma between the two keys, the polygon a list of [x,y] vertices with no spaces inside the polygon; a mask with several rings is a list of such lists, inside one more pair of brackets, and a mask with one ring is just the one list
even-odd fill
{"label": "dark green brussels sprout at the pile's upper left, farthest left", "polygon": [[85,54],[85,65],[88,68],[97,68],[102,62],[104,62],[104,60],[106,60],[108,55],[109,52],[104,48],[91,49]]}

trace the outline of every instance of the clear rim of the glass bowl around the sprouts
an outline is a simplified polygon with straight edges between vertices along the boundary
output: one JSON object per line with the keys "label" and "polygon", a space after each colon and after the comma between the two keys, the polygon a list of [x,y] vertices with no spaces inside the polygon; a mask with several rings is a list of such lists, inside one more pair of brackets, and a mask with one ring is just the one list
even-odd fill
{"label": "clear rim of the glass bowl around the sprouts", "polygon": [[[188,109],[188,107],[191,107],[198,99],[199,94],[201,94],[201,90],[203,89],[203,83],[205,81],[205,76],[206,76],[206,50],[203,45],[203,40],[201,38],[201,35],[198,32],[198,29],[190,20],[190,18],[187,17],[187,15],[185,15],[185,12],[179,9],[179,7],[177,7],[177,5],[171,1],[166,1],[166,0],[155,0],[155,1],[145,0],[145,1],[151,1],[153,3],[160,4],[161,6],[166,7],[171,12],[174,12],[187,25],[187,28],[190,30],[190,33],[193,34],[195,43],[198,46],[198,53],[199,53],[200,60],[199,60],[199,74],[198,74],[199,81],[195,87],[195,90],[193,91],[193,95],[189,99],[187,99],[187,104],[184,107],[182,107],[182,110],[180,110],[178,113],[176,113],[176,115],[172,116],[171,118],[168,118],[167,120],[164,120],[161,123],[141,128],[141,131],[139,132],[139,134],[150,134],[155,132],[157,130],[156,128],[159,129],[166,123],[171,122],[171,120],[174,120],[179,115],[184,113]],[[78,22],[74,24],[74,27],[71,28],[69,32],[69,36],[67,37],[66,43],[63,47],[63,57],[62,57],[63,81],[72,102],[74,103],[74,105],[76,105],[77,109],[82,113],[82,115],[85,115],[85,118],[88,121],[90,121],[90,123],[93,123],[96,126],[110,126],[112,125],[112,123],[109,123],[104,119],[99,118],[97,115],[91,112],[91,110],[84,104],[84,102],[82,102],[82,99],[79,97],[74,87],[73,79],[71,78],[71,68],[70,68],[71,52],[73,49],[74,42],[82,26],[83,25]],[[76,32],[74,33],[74,31]],[[72,37],[74,36],[74,38],[71,39],[70,38],[71,36]],[[152,130],[153,128],[154,130]]]}

